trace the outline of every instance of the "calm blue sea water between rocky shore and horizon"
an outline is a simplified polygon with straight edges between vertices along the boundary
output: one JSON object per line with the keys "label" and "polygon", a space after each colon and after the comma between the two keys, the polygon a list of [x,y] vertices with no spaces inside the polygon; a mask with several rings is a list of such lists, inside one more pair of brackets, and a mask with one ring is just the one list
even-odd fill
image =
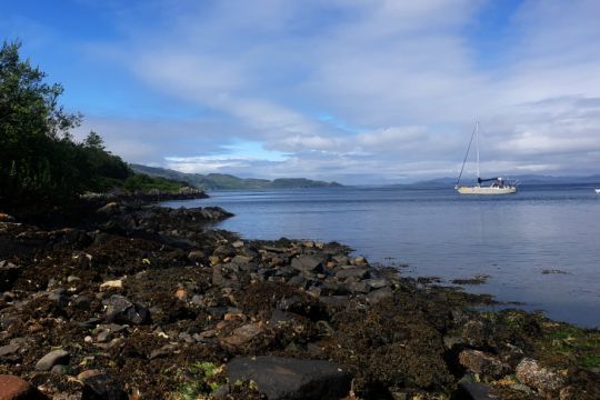
{"label": "calm blue sea water between rocky shore and horizon", "polygon": [[[600,196],[590,186],[522,186],[507,197],[451,188],[222,191],[170,207],[220,206],[218,224],[251,239],[339,241],[407,276],[489,276],[470,292],[600,327]],[[546,272],[546,273],[544,273]],[[551,273],[548,273],[551,272]]]}

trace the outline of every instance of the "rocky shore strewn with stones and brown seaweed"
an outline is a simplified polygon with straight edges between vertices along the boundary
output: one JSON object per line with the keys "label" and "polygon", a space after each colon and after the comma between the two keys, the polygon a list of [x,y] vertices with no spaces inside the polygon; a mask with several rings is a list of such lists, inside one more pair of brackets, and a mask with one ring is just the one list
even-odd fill
{"label": "rocky shore strewn with stones and brown seaweed", "polygon": [[0,214],[0,399],[600,399],[600,332],[220,208]]}

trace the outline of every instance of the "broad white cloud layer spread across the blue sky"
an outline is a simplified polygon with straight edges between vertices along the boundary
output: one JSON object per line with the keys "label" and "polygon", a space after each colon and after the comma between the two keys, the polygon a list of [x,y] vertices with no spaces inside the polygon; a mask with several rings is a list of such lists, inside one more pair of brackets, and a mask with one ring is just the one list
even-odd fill
{"label": "broad white cloud layer spread across the blue sky", "polygon": [[[154,3],[164,12],[153,27],[119,13],[127,40],[106,44],[111,60],[219,119],[159,122],[147,136],[148,124],[107,122],[126,158],[267,178],[452,176],[480,119],[486,168],[588,173],[598,162],[596,1],[523,1],[493,49],[474,36],[483,0],[170,3]],[[240,139],[284,161],[228,157]]]}

